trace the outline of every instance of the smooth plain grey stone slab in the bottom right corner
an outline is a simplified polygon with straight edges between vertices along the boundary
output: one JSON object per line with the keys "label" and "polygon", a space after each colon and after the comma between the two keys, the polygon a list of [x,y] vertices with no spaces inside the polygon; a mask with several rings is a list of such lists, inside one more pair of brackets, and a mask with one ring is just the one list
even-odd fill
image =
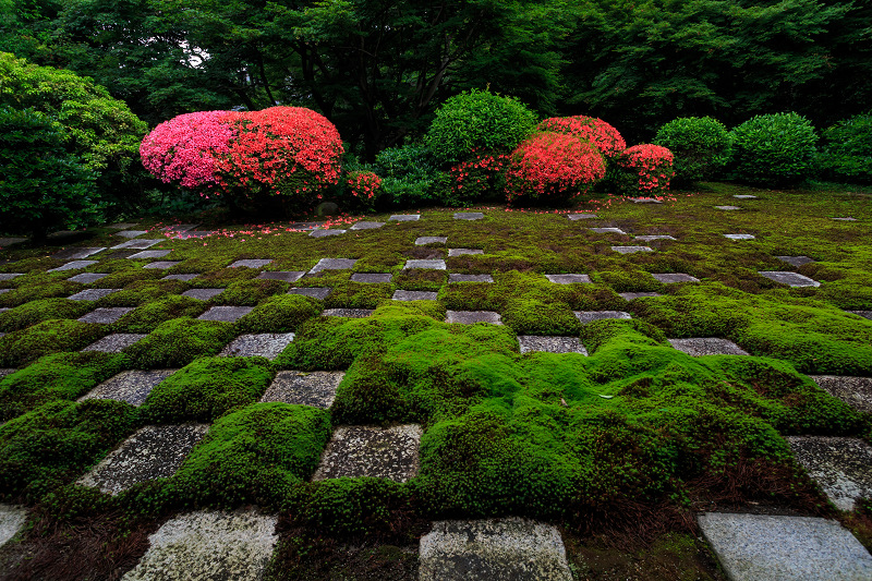
{"label": "smooth plain grey stone slab in the bottom right corner", "polygon": [[706,512],[698,517],[731,581],[861,581],[872,557],[837,521]]}

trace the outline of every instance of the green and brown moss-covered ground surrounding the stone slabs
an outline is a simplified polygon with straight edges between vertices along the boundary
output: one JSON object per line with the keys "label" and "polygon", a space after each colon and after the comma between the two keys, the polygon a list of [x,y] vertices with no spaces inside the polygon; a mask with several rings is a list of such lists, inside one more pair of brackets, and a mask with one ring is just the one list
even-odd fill
{"label": "green and brown moss-covered ground surrounding the stone slabs", "polygon": [[[728,204],[742,209],[714,207]],[[250,504],[281,516],[270,579],[415,579],[410,547],[427,522],[446,518],[557,524],[578,579],[723,579],[693,521],[695,510],[717,507],[837,517],[870,545],[868,509],[839,513],[784,436],[872,438],[868,414],[808,377],[872,376],[872,320],[848,313],[872,311],[872,197],[711,183],[663,204],[604,196],[572,210],[479,210],[484,219],[461,221],[455,209],[429,208],[420,221],[320,239],[287,223],[186,216],[217,233],[179,240],[141,220],[143,238],[161,239],[152,250],[171,250],[160,259],[178,262],[164,270],[107,250],[87,268],[49,273],[63,264],[51,258],[59,247],[0,250],[0,273],[21,274],[0,280],[9,289],[0,293],[0,367],[11,371],[0,379],[0,501],[34,509],[27,532],[0,549],[0,577],[116,579],[175,512]],[[573,221],[568,211],[597,218]],[[109,247],[120,242],[113,232],[96,228],[74,245]],[[676,240],[633,238],[646,234]],[[419,237],[448,242],[416,246]],[[610,249],[638,244],[654,252]],[[449,257],[447,249],[484,252]],[[777,258],[799,255],[813,262]],[[328,257],[356,263],[294,282],[258,278]],[[229,267],[244,258],[272,262]],[[402,269],[415,258],[445,259],[447,271]],[[789,288],[759,274],[768,270],[821,286]],[[108,276],[68,280],[82,273]],[[351,280],[355,273],[393,278],[365,283]],[[661,273],[700,282],[664,285],[651,276]],[[162,280],[177,274],[197,277]],[[448,274],[494,282],[449,283]],[[550,274],[585,274],[591,283],[555,285]],[[324,301],[288,294],[306,287],[331,292]],[[65,299],[88,288],[120,291]],[[225,290],[199,301],[182,295],[190,289]],[[438,300],[391,301],[398,289],[437,291]],[[661,295],[628,302],[626,292]],[[253,310],[235,322],[197,319],[211,306]],[[76,320],[97,307],[132,311],[106,325]],[[320,316],[338,307],[375,312]],[[449,325],[447,310],[495,311],[504,325]],[[582,326],[573,311],[632,318]],[[148,336],[121,353],[78,352],[112,332]],[[275,360],[216,358],[252,332],[295,339]],[[519,335],[577,337],[590,356],[521,354]],[[750,356],[692,358],[667,341],[691,337],[729,339]],[[121,371],[153,368],[180,371],[142,407],[78,401]],[[258,402],[283,370],[346,376],[329,410]],[[74,484],[142,425],[185,421],[211,428],[174,476],[114,497]],[[424,429],[409,482],[310,481],[331,428],[397,423]]]}

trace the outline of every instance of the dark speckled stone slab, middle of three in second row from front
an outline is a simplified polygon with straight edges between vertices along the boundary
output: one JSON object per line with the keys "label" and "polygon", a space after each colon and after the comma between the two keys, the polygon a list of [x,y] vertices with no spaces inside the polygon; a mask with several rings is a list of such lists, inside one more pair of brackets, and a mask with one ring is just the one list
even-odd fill
{"label": "dark speckled stone slab, middle of three in second row from front", "polygon": [[422,433],[417,424],[340,426],[327,443],[312,480],[370,476],[407,482],[417,474]]}

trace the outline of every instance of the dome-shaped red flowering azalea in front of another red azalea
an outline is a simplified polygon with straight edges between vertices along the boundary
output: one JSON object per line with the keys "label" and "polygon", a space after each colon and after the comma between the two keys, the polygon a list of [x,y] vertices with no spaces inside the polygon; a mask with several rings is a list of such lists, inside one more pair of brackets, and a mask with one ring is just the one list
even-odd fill
{"label": "dome-shaped red flowering azalea in front of another red azalea", "polygon": [[605,160],[589,142],[561,133],[537,133],[512,153],[506,171],[509,202],[548,198],[565,203],[606,173]]}

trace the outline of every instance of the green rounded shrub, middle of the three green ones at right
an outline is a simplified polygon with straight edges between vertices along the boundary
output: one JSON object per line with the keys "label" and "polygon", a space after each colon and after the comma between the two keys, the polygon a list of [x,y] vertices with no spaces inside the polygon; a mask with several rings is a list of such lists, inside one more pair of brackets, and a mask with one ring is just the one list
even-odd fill
{"label": "green rounded shrub, middle of the three green ones at right", "polygon": [[818,136],[798,113],[756,116],[732,130],[736,178],[755,185],[790,185],[809,178]]}

